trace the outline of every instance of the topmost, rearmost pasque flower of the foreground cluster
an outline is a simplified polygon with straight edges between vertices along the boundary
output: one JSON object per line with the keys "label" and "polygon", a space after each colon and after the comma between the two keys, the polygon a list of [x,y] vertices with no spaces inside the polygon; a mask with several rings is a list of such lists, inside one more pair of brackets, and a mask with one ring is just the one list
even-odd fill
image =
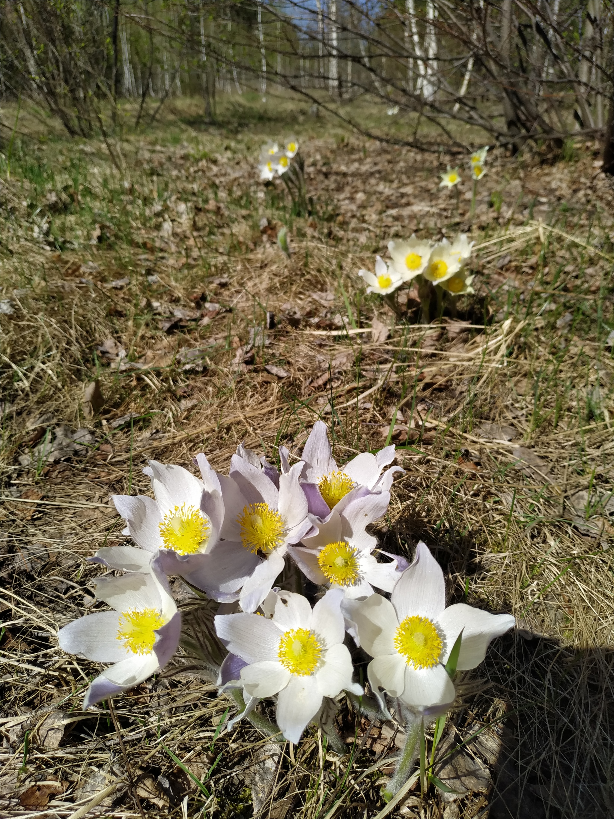
{"label": "topmost, rearmost pasque flower of the foreground cluster", "polygon": [[327,425],[316,421],[301,455],[305,462],[301,486],[307,496],[309,512],[318,515],[318,518],[326,518],[340,500],[358,486],[372,492],[389,492],[395,473],[403,472],[396,466],[381,474],[381,470],[395,459],[394,444],[385,446],[376,455],[361,452],[341,468],[338,467],[332,457],[327,432]]}

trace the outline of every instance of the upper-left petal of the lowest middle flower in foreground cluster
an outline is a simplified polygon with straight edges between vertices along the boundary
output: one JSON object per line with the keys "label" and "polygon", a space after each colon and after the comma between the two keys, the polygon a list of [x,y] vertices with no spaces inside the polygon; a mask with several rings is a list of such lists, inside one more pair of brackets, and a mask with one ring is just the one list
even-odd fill
{"label": "upper-left petal of the lowest middle flower in foreground cluster", "polygon": [[246,663],[277,661],[282,632],[273,621],[259,614],[218,614],[214,625],[228,651]]}

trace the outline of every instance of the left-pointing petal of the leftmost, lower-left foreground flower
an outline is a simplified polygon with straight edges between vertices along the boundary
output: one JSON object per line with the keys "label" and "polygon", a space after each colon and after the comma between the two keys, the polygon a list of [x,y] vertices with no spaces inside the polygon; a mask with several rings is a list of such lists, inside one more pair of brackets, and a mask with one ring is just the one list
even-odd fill
{"label": "left-pointing petal of the leftmost, lower-left foreground flower", "polygon": [[73,620],[57,632],[60,648],[69,654],[83,654],[98,663],[117,663],[132,656],[117,639],[120,630],[119,612],[97,612]]}

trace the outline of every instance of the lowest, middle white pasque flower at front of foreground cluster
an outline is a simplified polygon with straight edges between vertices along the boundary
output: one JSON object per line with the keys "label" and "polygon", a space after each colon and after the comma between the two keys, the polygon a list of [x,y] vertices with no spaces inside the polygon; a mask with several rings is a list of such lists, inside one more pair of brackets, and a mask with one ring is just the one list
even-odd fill
{"label": "lowest, middle white pasque flower at front of foreground cluster", "polygon": [[303,595],[280,592],[273,617],[258,614],[221,614],[215,631],[231,654],[246,665],[229,687],[242,686],[246,709],[241,719],[264,697],[278,695],[277,722],[283,735],[297,743],[322,706],[323,697],[342,690],[360,696],[352,682],[352,658],[343,645],[343,593],[329,589],[314,605]]}

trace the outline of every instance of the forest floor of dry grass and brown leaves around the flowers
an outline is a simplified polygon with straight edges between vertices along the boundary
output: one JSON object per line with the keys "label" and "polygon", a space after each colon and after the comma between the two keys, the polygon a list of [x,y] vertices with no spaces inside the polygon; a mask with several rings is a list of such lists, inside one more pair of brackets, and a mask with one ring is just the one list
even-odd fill
{"label": "forest floor of dry grass and brown leaves around the flowers", "polygon": [[[57,647],[98,605],[86,558],[125,541],[109,498],[148,491],[147,458],[192,468],[204,451],[226,471],[245,441],[276,461],[321,418],[341,461],[398,446],[382,548],[410,556],[423,539],[450,600],[517,617],[447,723],[436,772],[453,792],[414,788],[387,815],[606,816],[614,207],[597,146],[565,161],[492,150],[469,219],[467,170],[458,210],[439,188],[449,157],[306,107],[252,114],[231,128],[169,110],[108,145],[33,125],[4,146],[2,815],[136,817],[131,777],[148,817],[386,815],[389,725],[343,710],[345,756],[316,730],[297,746],[248,723],[226,734],[231,700],[178,658],[116,699],[120,740],[108,710],[80,710],[97,663]],[[291,133],[305,218],[256,171],[266,138]],[[399,319],[364,293],[359,268],[414,231],[476,242],[476,294],[455,318],[424,326],[415,294]]]}

